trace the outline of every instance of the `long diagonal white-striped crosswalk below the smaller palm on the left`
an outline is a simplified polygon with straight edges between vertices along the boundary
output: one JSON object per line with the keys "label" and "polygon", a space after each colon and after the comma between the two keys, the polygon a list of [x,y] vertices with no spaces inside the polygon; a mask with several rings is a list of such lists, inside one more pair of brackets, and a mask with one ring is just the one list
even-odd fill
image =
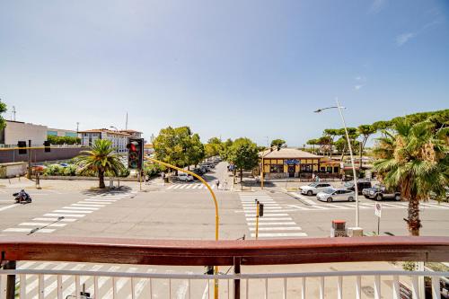
{"label": "long diagonal white-striped crosswalk below the smaller palm on the left", "polygon": [[40,217],[32,218],[30,221],[17,224],[3,230],[4,233],[54,233],[58,228],[74,223],[85,215],[90,215],[101,207],[107,207],[116,201],[135,194],[136,191],[119,192],[110,191],[100,195],[94,195],[71,204],[66,207],[57,208]]}

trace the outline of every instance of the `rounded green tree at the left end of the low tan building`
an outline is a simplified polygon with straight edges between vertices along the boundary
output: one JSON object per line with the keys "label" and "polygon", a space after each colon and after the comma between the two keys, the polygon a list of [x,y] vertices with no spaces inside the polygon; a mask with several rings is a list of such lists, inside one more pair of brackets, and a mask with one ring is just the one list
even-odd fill
{"label": "rounded green tree at the left end of the low tan building", "polygon": [[252,170],[259,164],[259,153],[257,145],[249,138],[235,139],[229,148],[227,161],[233,163],[240,171],[240,181],[243,180],[243,170]]}

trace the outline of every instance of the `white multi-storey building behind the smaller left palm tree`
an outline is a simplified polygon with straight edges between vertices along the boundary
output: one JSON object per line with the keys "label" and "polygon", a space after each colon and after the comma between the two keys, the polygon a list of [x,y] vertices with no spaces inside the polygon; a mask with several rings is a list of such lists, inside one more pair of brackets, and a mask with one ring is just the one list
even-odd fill
{"label": "white multi-storey building behind the smaller left palm tree", "polygon": [[135,135],[123,133],[121,131],[111,131],[107,128],[85,130],[80,131],[79,133],[81,134],[81,144],[83,146],[92,146],[95,140],[106,139],[112,142],[112,146],[116,148],[116,152],[119,154],[128,153],[127,145],[129,138],[135,137]]}

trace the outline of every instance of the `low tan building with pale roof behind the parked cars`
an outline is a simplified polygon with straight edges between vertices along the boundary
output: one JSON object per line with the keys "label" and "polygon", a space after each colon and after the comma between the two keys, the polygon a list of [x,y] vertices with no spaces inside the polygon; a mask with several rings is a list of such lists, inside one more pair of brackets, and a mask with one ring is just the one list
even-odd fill
{"label": "low tan building with pale roof behind the parked cars", "polygon": [[260,152],[263,157],[264,176],[269,178],[312,178],[313,173],[320,177],[339,176],[339,162],[328,157],[311,154],[295,148],[280,148]]}

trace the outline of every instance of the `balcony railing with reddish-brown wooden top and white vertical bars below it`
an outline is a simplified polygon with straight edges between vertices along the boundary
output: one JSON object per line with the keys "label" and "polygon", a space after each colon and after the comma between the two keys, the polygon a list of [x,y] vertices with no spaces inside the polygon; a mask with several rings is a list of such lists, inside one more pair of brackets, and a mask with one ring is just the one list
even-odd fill
{"label": "balcony railing with reddish-brown wooden top and white vertical bars below it", "polygon": [[[263,240],[263,241],[184,241],[184,240],[143,240],[143,239],[117,239],[117,238],[90,238],[90,237],[1,237],[0,252],[3,265],[15,265],[15,261],[73,261],[91,263],[116,263],[135,265],[171,265],[171,266],[234,266],[236,275],[230,276],[176,276],[173,279],[224,279],[233,280],[233,294],[240,296],[240,280],[246,279],[245,290],[249,292],[249,280],[253,278],[265,279],[266,295],[268,294],[267,279],[280,277],[284,279],[284,294],[286,294],[286,278],[303,277],[305,290],[305,277],[321,277],[320,297],[324,297],[324,277],[339,277],[339,295],[341,293],[341,277],[357,277],[356,289],[360,294],[360,277],[374,276],[375,287],[380,290],[380,277],[393,276],[393,294],[399,294],[400,281],[404,271],[359,271],[345,272],[319,272],[319,273],[284,273],[284,274],[250,274],[241,275],[241,265],[279,265],[279,264],[311,264],[335,262],[360,261],[448,261],[449,237],[360,237],[360,238],[304,238],[290,240]],[[21,283],[25,283],[27,274],[40,274],[39,286],[44,292],[44,275],[57,275],[57,286],[61,276],[73,275],[76,292],[79,297],[80,276],[92,276],[94,282],[92,289],[98,291],[98,277],[147,277],[150,279],[168,276],[150,276],[148,274],[130,273],[104,273],[95,274],[94,271],[79,273],[76,271],[48,271],[48,270],[0,270],[5,275],[13,277],[19,275]],[[8,272],[9,271],[9,272]],[[391,273],[390,273],[391,272]],[[445,274],[445,273],[443,273]],[[139,276],[140,275],[140,276]],[[418,286],[418,276],[433,276],[434,289],[438,287],[438,273],[428,275],[417,272],[413,279],[413,290]],[[435,279],[434,279],[435,278]],[[8,278],[9,279],[9,278]],[[14,278],[15,279],[15,278]],[[25,280],[23,280],[25,279]],[[115,279],[115,278],[114,278]],[[135,279],[135,278],[132,278]],[[9,280],[8,280],[9,281]],[[61,280],[62,281],[62,280]],[[41,286],[42,284],[42,286]],[[132,298],[135,296],[134,280],[131,280]],[[10,284],[13,286],[13,283]],[[24,285],[22,285],[24,287]],[[55,285],[56,286],[56,285]],[[61,285],[62,286],[62,285]],[[113,282],[115,287],[115,280]],[[59,290],[59,287],[57,288]],[[1,291],[1,290],[0,290]],[[114,289],[114,292],[117,290]],[[21,292],[25,293],[24,288]],[[228,283],[228,294],[229,294]],[[438,288],[439,292],[439,288]],[[61,290],[61,295],[62,295]],[[115,293],[113,293],[115,294]],[[1,292],[0,292],[0,297]],[[42,293],[43,297],[43,293]],[[58,293],[59,297],[59,293]],[[380,298],[380,291],[375,298]],[[393,297],[395,297],[393,295]],[[119,298],[115,296],[114,298]],[[414,298],[418,298],[417,295]],[[436,298],[438,296],[436,295]]]}

